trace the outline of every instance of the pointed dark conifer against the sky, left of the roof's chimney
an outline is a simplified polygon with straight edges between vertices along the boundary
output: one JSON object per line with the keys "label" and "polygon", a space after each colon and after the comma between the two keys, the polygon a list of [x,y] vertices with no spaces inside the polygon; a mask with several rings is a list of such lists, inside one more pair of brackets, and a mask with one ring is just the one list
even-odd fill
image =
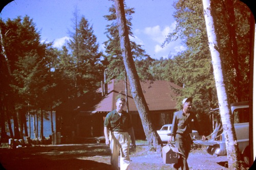
{"label": "pointed dark conifer against the sky, left of the roof's chimney", "polygon": [[98,52],[99,45],[94,35],[93,27],[83,16],[79,20],[78,14],[74,13],[75,32],[69,42],[72,58],[75,61],[75,87],[77,96],[98,87],[102,76],[102,65],[100,58],[102,53]]}

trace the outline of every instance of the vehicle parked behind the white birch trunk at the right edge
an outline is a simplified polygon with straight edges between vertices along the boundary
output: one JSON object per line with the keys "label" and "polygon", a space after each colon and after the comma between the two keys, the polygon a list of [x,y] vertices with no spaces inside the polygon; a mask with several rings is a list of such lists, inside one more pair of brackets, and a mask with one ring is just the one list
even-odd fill
{"label": "vehicle parked behind the white birch trunk at the right edge", "polygon": [[[239,151],[243,160],[249,165],[249,102],[239,102],[231,104],[232,119],[234,120],[234,129],[237,135]],[[211,110],[211,114],[219,115],[219,108]],[[221,121],[221,120],[220,120]],[[222,130],[222,124],[216,126],[211,138],[206,141],[194,140],[196,144],[207,146],[208,154],[226,155],[225,135]]]}

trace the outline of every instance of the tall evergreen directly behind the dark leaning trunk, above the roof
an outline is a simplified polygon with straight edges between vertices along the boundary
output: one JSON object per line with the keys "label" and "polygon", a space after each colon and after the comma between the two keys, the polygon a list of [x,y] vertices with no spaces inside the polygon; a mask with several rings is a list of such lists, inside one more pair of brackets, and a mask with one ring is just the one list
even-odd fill
{"label": "tall evergreen directly behind the dark leaning trunk, above the roof", "polygon": [[[124,4],[125,16],[126,16],[126,26],[129,32],[129,36],[133,37],[132,33],[132,14],[135,13],[134,8],[128,8]],[[110,25],[106,26],[106,37],[108,40],[104,42],[105,53],[108,59],[108,80],[111,79],[124,79],[125,71],[122,59],[122,52],[120,48],[120,39],[118,35],[118,26],[116,22],[116,10],[115,6],[112,5],[109,8],[109,15],[104,15],[104,18],[108,21],[112,21]],[[152,80],[153,77],[148,70],[153,59],[150,58],[142,49],[142,45],[137,44],[134,41],[130,41],[132,55],[135,60],[136,69],[141,80]]]}

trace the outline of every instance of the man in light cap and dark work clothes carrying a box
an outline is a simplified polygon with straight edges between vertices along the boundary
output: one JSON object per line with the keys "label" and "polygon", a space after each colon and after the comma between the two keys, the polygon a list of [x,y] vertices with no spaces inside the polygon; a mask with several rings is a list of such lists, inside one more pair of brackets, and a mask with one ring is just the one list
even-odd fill
{"label": "man in light cap and dark work clothes carrying a box", "polygon": [[191,148],[192,130],[197,130],[199,135],[202,135],[202,140],[205,136],[198,124],[196,114],[191,111],[193,98],[186,98],[182,101],[183,109],[174,113],[173,126],[170,130],[170,138],[168,143],[175,138],[175,145],[179,149],[180,158],[178,163],[173,164],[174,169],[181,167],[183,170],[188,170],[187,158]]}

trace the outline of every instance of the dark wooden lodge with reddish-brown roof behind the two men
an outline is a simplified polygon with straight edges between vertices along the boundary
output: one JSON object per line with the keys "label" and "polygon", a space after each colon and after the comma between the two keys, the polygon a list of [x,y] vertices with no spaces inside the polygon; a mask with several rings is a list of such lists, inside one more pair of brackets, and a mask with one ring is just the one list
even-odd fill
{"label": "dark wooden lodge with reddish-brown roof behind the two men", "polygon": [[[167,81],[143,81],[141,88],[150,110],[150,116],[155,130],[164,124],[171,124],[173,113],[176,111],[177,94],[174,89],[181,87]],[[141,119],[135,102],[129,94],[129,113],[132,116],[136,139],[145,139]],[[105,89],[105,90],[104,90]],[[56,108],[56,132],[60,132],[62,143],[70,142],[71,138],[84,139],[88,137],[104,136],[103,122],[106,114],[116,109],[116,99],[125,99],[124,81],[112,80],[96,92],[89,92],[72,101],[63,102]],[[126,108],[124,109],[126,110]]]}

